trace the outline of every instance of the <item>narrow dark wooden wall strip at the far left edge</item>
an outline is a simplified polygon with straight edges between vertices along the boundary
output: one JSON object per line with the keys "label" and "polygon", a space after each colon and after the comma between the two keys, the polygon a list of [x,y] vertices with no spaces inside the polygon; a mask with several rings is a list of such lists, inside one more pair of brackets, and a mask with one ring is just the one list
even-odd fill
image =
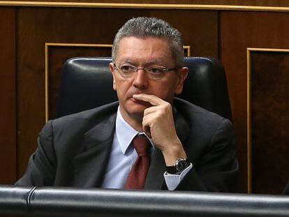
{"label": "narrow dark wooden wall strip at the far left edge", "polygon": [[0,184],[16,175],[15,9],[0,8]]}

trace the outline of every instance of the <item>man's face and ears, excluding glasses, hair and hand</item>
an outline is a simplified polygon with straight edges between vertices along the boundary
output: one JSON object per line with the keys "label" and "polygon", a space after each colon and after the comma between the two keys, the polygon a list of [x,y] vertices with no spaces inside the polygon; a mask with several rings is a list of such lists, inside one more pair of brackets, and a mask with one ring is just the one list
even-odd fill
{"label": "man's face and ears, excluding glasses, hair and hand", "polygon": [[[175,68],[168,40],[151,37],[122,38],[119,42],[115,65],[120,68],[124,64],[138,68],[149,66]],[[114,69],[113,63],[110,63],[110,70],[113,75],[113,88],[117,91],[119,98],[120,111],[125,119],[126,117],[141,118],[144,109],[151,106],[147,102],[135,100],[134,94],[146,93],[172,103],[175,93],[181,93],[187,75],[187,68],[181,68],[178,69],[179,73],[173,70],[161,79],[152,80],[142,69],[134,73],[132,77],[122,77],[119,71]]]}

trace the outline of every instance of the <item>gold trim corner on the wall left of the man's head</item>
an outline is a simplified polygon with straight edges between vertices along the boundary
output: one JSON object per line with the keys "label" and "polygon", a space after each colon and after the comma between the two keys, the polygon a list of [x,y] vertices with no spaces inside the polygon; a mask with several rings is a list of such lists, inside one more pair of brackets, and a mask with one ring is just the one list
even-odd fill
{"label": "gold trim corner on the wall left of the man's head", "polygon": [[45,121],[49,119],[49,81],[48,81],[48,52],[50,47],[112,47],[107,44],[77,44],[77,43],[45,43]]}

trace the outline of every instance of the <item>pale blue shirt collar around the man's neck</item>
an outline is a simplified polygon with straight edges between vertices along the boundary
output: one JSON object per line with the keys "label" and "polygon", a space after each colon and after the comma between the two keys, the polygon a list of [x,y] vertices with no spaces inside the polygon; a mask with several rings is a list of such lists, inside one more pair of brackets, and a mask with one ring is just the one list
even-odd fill
{"label": "pale blue shirt collar around the man's neck", "polygon": [[[131,144],[131,141],[133,141],[133,138],[135,137],[135,135],[138,135],[138,134],[146,135],[143,132],[138,132],[138,130],[135,130],[131,125],[129,125],[122,117],[119,108],[117,110],[117,121],[115,124],[115,133],[117,135],[117,139],[119,140],[119,145],[123,154],[126,153],[126,150]],[[151,146],[154,148],[154,143],[151,141],[149,137],[147,138],[149,139]]]}

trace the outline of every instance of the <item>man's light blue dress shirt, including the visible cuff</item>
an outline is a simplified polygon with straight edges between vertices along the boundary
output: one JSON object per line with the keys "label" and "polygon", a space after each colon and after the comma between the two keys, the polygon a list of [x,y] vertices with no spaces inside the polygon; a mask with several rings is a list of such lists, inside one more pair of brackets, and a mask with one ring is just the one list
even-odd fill
{"label": "man's light blue dress shirt, including the visible cuff", "polygon": [[[124,188],[131,167],[133,167],[133,163],[138,157],[133,145],[131,145],[133,138],[138,134],[144,133],[140,133],[132,128],[121,116],[118,109],[112,151],[110,152],[110,160],[108,161],[102,188]],[[151,139],[149,141],[151,142],[151,151],[154,151],[154,144]],[[187,167],[181,174],[168,174],[168,172],[165,172],[163,175],[168,190],[175,190],[181,179],[184,178],[191,168],[192,165]]]}

